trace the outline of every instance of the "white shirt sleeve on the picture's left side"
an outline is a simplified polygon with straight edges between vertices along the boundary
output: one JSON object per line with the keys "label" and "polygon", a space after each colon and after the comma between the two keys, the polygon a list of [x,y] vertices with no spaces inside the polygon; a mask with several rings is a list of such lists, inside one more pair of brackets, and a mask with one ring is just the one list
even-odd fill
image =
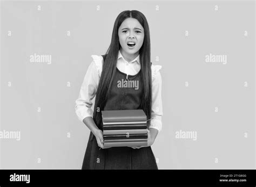
{"label": "white shirt sleeve on the picture's left side", "polygon": [[80,88],[78,99],[76,99],[75,111],[80,121],[86,117],[93,117],[92,99],[95,97],[99,79],[100,79],[100,65],[102,62],[100,57],[92,55],[93,61],[89,65],[82,86]]}

